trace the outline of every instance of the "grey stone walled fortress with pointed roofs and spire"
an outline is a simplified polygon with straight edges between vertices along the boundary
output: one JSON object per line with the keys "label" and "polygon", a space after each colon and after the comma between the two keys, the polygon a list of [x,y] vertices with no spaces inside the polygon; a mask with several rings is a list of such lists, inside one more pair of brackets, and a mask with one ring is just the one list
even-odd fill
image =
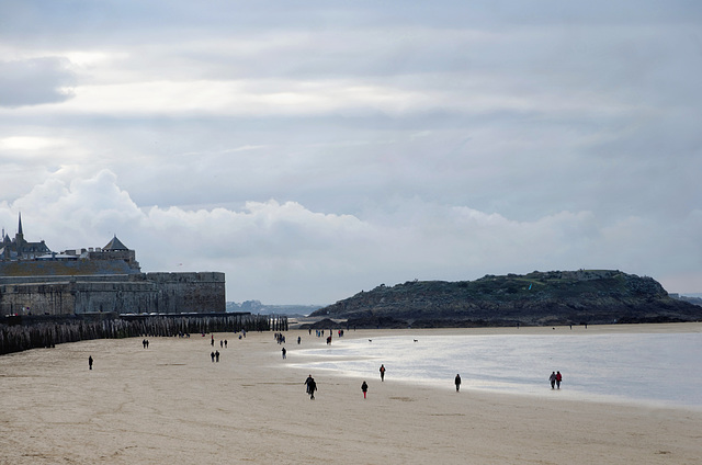
{"label": "grey stone walled fortress with pointed roofs and spire", "polygon": [[53,252],[44,241],[3,232],[0,315],[226,311],[220,272],[143,273],[116,235],[102,248]]}

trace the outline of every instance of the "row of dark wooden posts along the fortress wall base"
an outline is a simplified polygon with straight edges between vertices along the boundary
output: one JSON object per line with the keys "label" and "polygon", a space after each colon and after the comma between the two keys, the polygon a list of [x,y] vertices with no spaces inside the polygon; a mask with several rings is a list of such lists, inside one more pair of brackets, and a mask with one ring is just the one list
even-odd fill
{"label": "row of dark wooden posts along the fortress wall base", "polygon": [[286,316],[207,315],[149,316],[140,318],[60,319],[0,324],[0,354],[88,339],[120,339],[236,331],[286,331]]}

